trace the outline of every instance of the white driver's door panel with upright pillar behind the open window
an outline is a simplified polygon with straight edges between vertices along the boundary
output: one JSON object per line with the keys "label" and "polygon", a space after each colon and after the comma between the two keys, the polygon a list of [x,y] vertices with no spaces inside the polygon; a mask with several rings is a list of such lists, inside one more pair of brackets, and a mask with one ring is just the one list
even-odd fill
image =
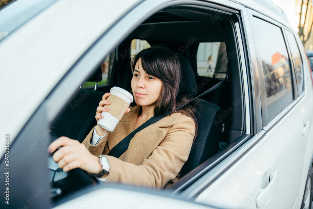
{"label": "white driver's door panel with upright pillar behind the open window", "polygon": [[214,158],[213,168],[209,170],[208,165],[207,173],[181,191],[181,196],[224,208],[277,209],[280,208],[279,174],[275,172],[277,155],[262,129],[259,71],[252,39],[258,28],[249,25],[244,6],[228,1],[221,4],[239,11],[239,21],[234,23],[238,45],[233,54],[238,55],[241,66],[247,129],[228,145],[228,153]]}

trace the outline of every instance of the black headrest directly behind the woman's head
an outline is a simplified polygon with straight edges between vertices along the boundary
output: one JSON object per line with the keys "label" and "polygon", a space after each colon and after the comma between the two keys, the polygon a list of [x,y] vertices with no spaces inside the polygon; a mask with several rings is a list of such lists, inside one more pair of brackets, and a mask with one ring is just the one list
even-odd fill
{"label": "black headrest directly behind the woman's head", "polygon": [[180,53],[173,52],[175,56],[179,59],[182,66],[182,81],[183,81],[183,91],[185,94],[192,94],[192,96],[197,94],[197,83],[193,70],[188,62],[188,60]]}

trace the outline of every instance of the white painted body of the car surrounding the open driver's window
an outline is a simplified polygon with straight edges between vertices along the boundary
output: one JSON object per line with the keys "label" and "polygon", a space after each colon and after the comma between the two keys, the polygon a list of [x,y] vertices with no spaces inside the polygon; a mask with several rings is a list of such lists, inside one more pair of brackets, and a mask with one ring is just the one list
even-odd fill
{"label": "white painted body of the car surrounding the open driver's window", "polygon": [[[90,75],[91,68],[95,68],[97,62],[109,54],[138,24],[162,8],[188,2],[183,0],[59,0],[17,28],[0,41],[0,88],[3,98],[0,108],[1,137],[9,134],[10,144],[12,144],[21,131],[26,129],[25,127],[40,106],[44,106],[46,110],[42,113],[43,120],[53,121],[68,98]],[[249,34],[253,33],[253,28],[250,28],[249,24],[249,16],[254,14],[253,10],[262,13],[264,18],[271,16],[278,23],[289,25],[284,18],[254,1],[216,0],[208,2],[241,11],[244,33],[246,33],[247,55],[250,60],[248,68],[245,62],[245,59],[248,58],[245,57],[241,45],[239,62],[243,69],[258,68],[255,60],[254,41],[248,38]],[[16,8],[12,8],[12,11],[6,15],[16,15],[14,9],[17,10],[26,3],[27,1],[18,2]],[[290,28],[290,30],[292,29]],[[39,35],[37,32],[42,33]],[[240,32],[236,32],[237,37],[242,38]],[[294,34],[296,33],[294,32]],[[99,43],[105,43],[105,47],[101,48]],[[153,194],[148,195],[143,201],[144,204],[138,204],[137,208],[157,206],[163,208],[187,208],[186,206],[209,208],[193,202],[221,208],[287,209],[301,207],[313,156],[313,131],[308,127],[313,125],[313,86],[310,72],[307,70],[310,69],[310,66],[306,61],[305,51],[301,48],[302,43],[299,37],[297,37],[297,43],[300,46],[305,69],[304,93],[286,106],[285,110],[268,125],[261,127],[262,130],[249,140],[235,146],[233,150],[229,150],[222,160],[216,159],[216,166],[187,189],[175,194],[178,198],[189,201],[189,205],[186,201]],[[26,48],[27,45],[29,45],[28,48]],[[90,52],[92,51],[99,53],[91,56]],[[94,64],[86,65],[85,60],[91,60]],[[91,67],[91,65],[93,66]],[[250,79],[247,77],[249,75],[250,73],[243,72],[245,78],[243,80],[246,107],[245,125],[247,127],[244,134],[246,135],[252,133],[252,129],[254,129],[250,126],[251,102],[249,98],[252,96],[249,95],[248,89]],[[72,79],[76,77],[77,79]],[[62,92],[61,89],[66,90]],[[259,95],[259,98],[256,98],[259,105],[261,105],[260,97]],[[49,103],[54,99],[59,99],[60,102]],[[40,123],[41,121],[38,121],[38,124]],[[307,132],[303,135],[304,129]],[[43,130],[48,131],[49,127],[43,127]],[[2,140],[0,155],[3,158],[5,157],[4,145]],[[11,172],[22,172],[14,165],[11,165],[11,169]],[[272,173],[275,174],[271,177],[271,182],[267,182]],[[23,174],[21,173],[21,175]],[[262,190],[267,186],[271,188],[267,191]],[[264,192],[263,197],[257,197],[260,191]],[[2,189],[1,192],[3,192]],[[83,196],[55,208],[77,208],[77,204],[83,198],[88,198],[89,194],[82,194]],[[168,195],[171,193],[169,192]],[[101,198],[104,196],[107,199]],[[130,202],[140,196],[142,193],[139,191],[104,187],[83,208],[99,207],[103,202],[106,202],[105,206],[108,208],[134,208],[134,205],[130,206]],[[11,201],[16,200],[12,199]],[[260,205],[258,206],[258,204]]]}

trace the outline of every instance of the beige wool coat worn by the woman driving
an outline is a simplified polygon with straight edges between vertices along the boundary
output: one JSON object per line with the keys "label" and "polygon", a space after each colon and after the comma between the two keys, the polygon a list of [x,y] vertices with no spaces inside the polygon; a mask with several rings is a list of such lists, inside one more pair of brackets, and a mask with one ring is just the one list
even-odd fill
{"label": "beige wool coat worn by the woman driving", "polygon": [[[188,159],[195,135],[195,123],[181,113],[173,113],[136,133],[128,149],[117,159],[106,154],[135,127],[141,106],[130,107],[113,132],[91,145],[95,127],[82,142],[93,155],[105,155],[110,164],[106,181],[163,188],[179,178]],[[167,186],[168,186],[167,185]]]}

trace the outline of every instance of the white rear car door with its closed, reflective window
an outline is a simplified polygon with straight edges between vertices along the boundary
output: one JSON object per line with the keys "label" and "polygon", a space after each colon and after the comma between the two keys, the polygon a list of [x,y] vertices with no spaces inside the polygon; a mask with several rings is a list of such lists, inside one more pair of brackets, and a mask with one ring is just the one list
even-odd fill
{"label": "white rear car door with its closed, reflective window", "polygon": [[307,61],[303,62],[295,36],[282,24],[252,10],[249,13],[251,26],[260,29],[253,39],[259,72],[263,71],[259,76],[262,123],[278,157],[280,206],[300,208],[312,158],[307,127],[312,105],[303,83]]}

